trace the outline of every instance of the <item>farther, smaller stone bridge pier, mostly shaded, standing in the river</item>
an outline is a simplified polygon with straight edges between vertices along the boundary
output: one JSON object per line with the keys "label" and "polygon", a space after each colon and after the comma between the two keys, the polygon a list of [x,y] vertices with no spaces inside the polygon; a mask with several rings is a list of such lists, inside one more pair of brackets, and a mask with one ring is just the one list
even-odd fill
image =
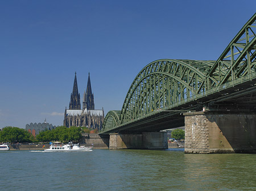
{"label": "farther, smaller stone bridge pier, mostly shaded, standing in the river", "polygon": [[110,134],[109,149],[152,149],[168,148],[166,132],[145,132],[141,134]]}

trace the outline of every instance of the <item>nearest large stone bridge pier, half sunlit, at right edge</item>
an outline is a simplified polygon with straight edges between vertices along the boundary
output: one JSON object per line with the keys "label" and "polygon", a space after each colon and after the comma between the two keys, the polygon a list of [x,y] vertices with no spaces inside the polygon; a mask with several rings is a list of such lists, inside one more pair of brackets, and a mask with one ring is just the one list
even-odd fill
{"label": "nearest large stone bridge pier, half sunlit, at right edge", "polygon": [[256,114],[191,112],[185,116],[185,153],[255,153]]}

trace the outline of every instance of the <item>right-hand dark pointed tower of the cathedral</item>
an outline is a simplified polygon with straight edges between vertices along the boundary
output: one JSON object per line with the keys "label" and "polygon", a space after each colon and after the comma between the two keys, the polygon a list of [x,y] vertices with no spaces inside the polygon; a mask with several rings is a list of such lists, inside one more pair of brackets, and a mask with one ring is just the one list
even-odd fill
{"label": "right-hand dark pointed tower of the cathedral", "polygon": [[92,94],[92,87],[90,86],[90,73],[88,76],[86,93],[84,91],[84,100],[82,101],[82,109],[94,110],[94,95]]}

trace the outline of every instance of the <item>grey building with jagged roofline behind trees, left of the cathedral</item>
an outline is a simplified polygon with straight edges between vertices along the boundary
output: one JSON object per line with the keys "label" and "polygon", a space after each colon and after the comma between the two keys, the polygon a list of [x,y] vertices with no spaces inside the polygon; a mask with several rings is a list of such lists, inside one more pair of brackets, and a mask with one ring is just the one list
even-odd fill
{"label": "grey building with jagged roofline behind trees, left of the cathedral", "polygon": [[26,130],[28,132],[30,132],[34,137],[36,135],[38,135],[40,133],[40,131],[44,131],[44,130],[52,130],[55,129],[56,126],[53,126],[52,124],[48,124],[48,122],[46,122],[46,119],[44,120],[44,122],[41,124],[39,122],[39,124],[36,123],[30,123],[26,125]]}

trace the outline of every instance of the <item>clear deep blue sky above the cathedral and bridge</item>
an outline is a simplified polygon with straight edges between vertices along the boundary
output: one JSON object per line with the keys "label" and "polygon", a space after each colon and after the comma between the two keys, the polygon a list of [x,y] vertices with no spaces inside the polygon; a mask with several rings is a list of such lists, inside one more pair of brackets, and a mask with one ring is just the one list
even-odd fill
{"label": "clear deep blue sky above the cathedral and bridge", "polygon": [[[75,72],[95,109],[121,110],[159,59],[217,60],[256,1],[0,1],[0,128],[63,125]],[[82,104],[82,103],[81,103]]]}

